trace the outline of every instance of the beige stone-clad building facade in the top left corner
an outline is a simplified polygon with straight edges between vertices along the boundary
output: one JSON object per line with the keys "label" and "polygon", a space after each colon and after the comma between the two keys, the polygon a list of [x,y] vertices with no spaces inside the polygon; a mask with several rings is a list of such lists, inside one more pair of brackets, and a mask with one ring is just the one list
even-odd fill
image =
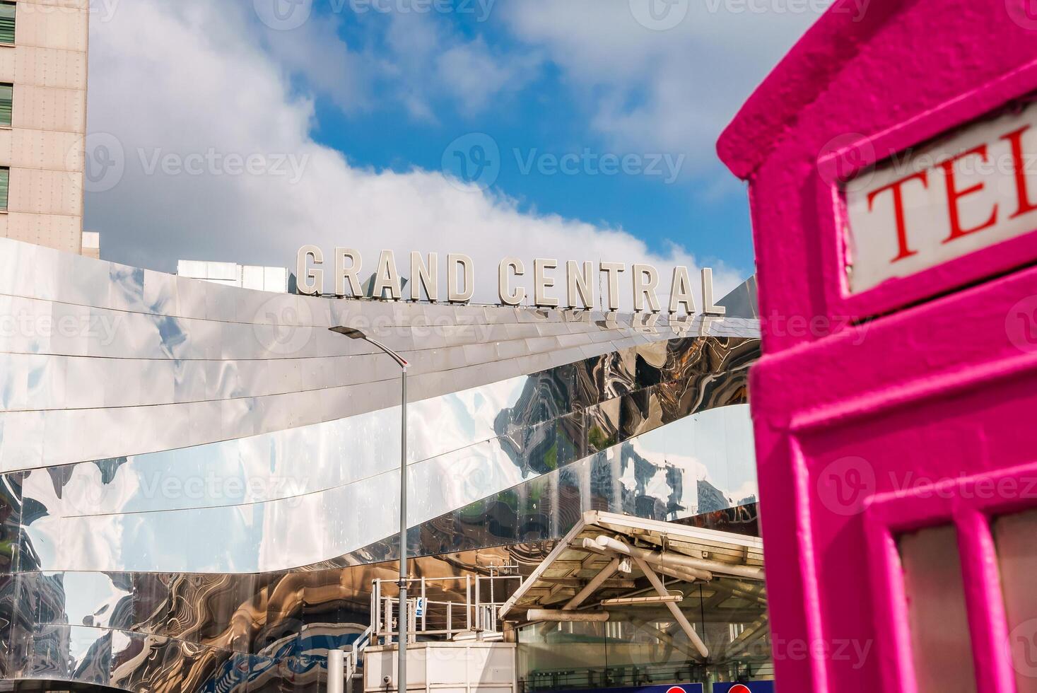
{"label": "beige stone-clad building facade in the top left corner", "polygon": [[88,0],[0,2],[0,237],[96,256],[83,243],[88,17]]}

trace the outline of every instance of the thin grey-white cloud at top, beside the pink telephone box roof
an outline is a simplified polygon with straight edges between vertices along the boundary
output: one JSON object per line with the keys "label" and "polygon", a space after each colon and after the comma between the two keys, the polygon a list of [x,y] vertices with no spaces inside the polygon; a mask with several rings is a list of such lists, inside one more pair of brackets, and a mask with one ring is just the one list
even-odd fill
{"label": "thin grey-white cloud at top, beside the pink telephone box roof", "polygon": [[676,0],[672,11],[686,15],[664,31],[632,10],[651,2],[522,0],[498,11],[562,68],[613,146],[683,153],[689,172],[719,172],[721,131],[832,0]]}

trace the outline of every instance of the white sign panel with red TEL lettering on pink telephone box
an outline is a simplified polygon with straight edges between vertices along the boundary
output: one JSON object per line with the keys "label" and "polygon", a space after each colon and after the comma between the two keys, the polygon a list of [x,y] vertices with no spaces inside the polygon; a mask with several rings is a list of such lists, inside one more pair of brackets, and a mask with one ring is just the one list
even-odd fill
{"label": "white sign panel with red TEL lettering on pink telephone box", "polygon": [[859,294],[1037,228],[1037,106],[964,126],[844,187]]}

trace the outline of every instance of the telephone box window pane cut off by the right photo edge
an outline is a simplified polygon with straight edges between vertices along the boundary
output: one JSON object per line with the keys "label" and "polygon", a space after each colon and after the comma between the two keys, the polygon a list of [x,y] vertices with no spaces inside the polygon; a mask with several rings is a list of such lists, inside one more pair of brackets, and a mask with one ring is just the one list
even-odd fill
{"label": "telephone box window pane cut off by the right photo edge", "polygon": [[1017,693],[1037,693],[1037,510],[998,518],[993,540]]}

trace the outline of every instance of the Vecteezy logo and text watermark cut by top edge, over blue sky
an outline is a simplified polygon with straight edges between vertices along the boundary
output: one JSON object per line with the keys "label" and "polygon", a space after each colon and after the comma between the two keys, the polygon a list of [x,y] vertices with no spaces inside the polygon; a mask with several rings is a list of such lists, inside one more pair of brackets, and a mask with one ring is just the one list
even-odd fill
{"label": "Vecteezy logo and text watermark cut by top edge, over blue sky", "polygon": [[[321,0],[325,2],[325,0]],[[485,22],[497,0],[327,0],[333,15],[460,15]],[[290,31],[306,24],[313,0],[253,0],[256,17],[271,29]]]}

